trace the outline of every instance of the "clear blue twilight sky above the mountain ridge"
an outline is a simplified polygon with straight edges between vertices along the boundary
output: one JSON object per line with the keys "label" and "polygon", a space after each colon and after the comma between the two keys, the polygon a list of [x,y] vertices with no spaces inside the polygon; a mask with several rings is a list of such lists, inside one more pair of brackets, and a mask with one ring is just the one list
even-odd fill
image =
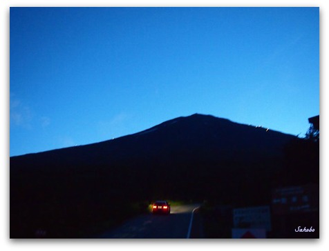
{"label": "clear blue twilight sky above the mountain ridge", "polygon": [[10,156],[196,112],[303,137],[319,8],[10,8]]}

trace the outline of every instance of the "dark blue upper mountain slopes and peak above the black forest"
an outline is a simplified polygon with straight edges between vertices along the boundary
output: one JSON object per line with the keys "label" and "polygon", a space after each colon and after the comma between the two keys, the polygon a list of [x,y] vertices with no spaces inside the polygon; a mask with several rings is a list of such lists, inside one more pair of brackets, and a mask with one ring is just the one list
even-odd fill
{"label": "dark blue upper mountain slopes and peak above the black forest", "polygon": [[[205,154],[216,159],[254,159],[282,154],[282,147],[293,136],[252,125],[234,123],[210,115],[179,117],[153,128],[118,139],[10,158],[14,168],[45,165],[70,168],[75,165],[100,165],[144,157],[173,157]],[[210,152],[209,152],[210,151]],[[207,157],[206,156],[206,157]],[[183,156],[182,156],[183,157]]]}

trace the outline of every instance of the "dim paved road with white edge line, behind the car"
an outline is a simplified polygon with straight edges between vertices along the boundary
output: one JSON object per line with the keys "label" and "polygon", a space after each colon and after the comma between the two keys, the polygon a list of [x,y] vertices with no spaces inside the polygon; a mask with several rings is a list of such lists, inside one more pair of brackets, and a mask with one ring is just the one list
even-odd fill
{"label": "dim paved road with white edge line, behind the car", "polygon": [[185,239],[191,232],[192,211],[197,207],[198,204],[177,205],[171,207],[170,215],[143,214],[97,238]]}

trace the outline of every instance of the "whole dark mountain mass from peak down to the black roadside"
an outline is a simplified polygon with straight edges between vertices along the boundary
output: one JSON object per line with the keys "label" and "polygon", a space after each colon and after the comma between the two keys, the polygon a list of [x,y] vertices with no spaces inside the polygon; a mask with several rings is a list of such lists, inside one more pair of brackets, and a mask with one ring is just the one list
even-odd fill
{"label": "whole dark mountain mass from peak down to the black roadside", "polygon": [[90,236],[150,201],[271,203],[278,185],[319,183],[319,141],[209,115],[100,143],[10,158],[10,238]]}

